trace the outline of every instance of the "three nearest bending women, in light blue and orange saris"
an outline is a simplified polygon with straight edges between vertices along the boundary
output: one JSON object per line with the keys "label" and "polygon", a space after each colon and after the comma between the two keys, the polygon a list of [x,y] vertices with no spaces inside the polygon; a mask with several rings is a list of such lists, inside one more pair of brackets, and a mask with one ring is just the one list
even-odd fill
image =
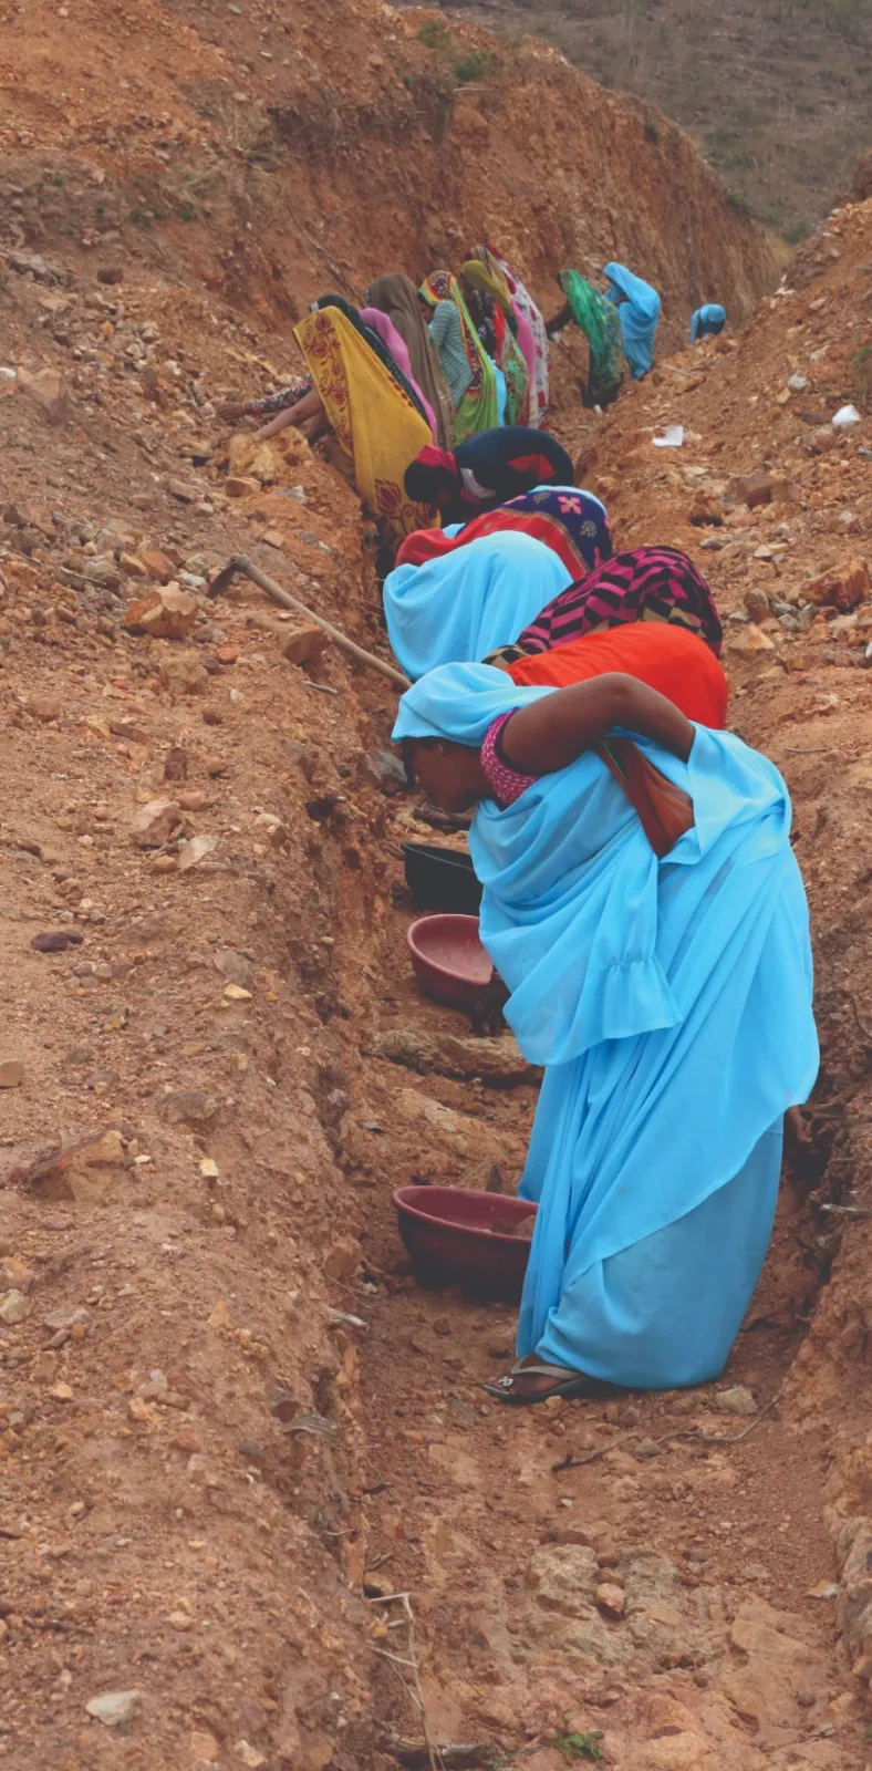
{"label": "three nearest bending women, in light blue and orange saris", "polygon": [[518,1358],[486,1388],[707,1381],[817,1073],[790,800],[723,730],[711,590],[673,549],[615,556],[604,507],[544,485],[411,535],[385,611],[417,678],[393,737],[431,800],[473,809],[480,939],[544,1066]]}

